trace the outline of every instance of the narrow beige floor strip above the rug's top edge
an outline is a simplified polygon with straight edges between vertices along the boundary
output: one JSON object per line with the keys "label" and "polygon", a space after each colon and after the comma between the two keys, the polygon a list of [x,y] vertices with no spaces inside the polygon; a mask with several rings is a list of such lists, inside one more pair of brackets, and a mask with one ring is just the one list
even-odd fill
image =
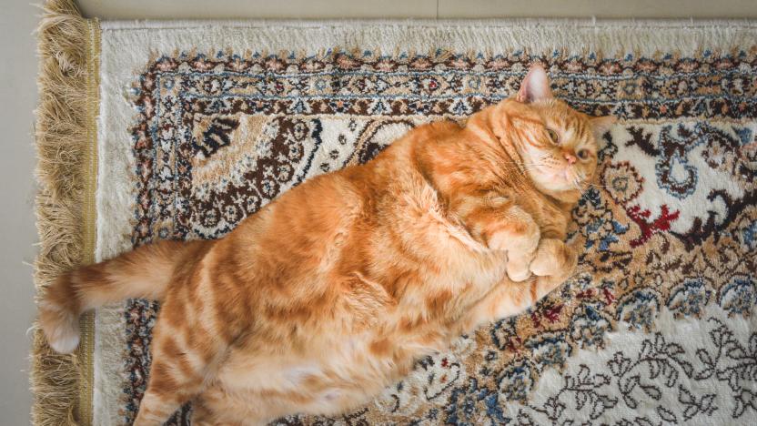
{"label": "narrow beige floor strip above the rug's top edge", "polygon": [[[338,17],[757,17],[757,0],[79,0],[119,19]],[[180,5],[180,6],[178,6]]]}

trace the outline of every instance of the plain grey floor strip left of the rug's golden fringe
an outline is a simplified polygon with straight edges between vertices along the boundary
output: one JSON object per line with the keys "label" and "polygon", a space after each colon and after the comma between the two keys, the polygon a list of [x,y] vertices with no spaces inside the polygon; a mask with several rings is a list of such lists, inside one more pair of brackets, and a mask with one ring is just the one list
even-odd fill
{"label": "plain grey floor strip left of the rug's golden fringe", "polygon": [[0,425],[29,423],[27,378],[34,317],[32,269],[36,240],[32,203],[32,109],[36,99],[37,9],[25,0],[3,0],[0,13]]}

